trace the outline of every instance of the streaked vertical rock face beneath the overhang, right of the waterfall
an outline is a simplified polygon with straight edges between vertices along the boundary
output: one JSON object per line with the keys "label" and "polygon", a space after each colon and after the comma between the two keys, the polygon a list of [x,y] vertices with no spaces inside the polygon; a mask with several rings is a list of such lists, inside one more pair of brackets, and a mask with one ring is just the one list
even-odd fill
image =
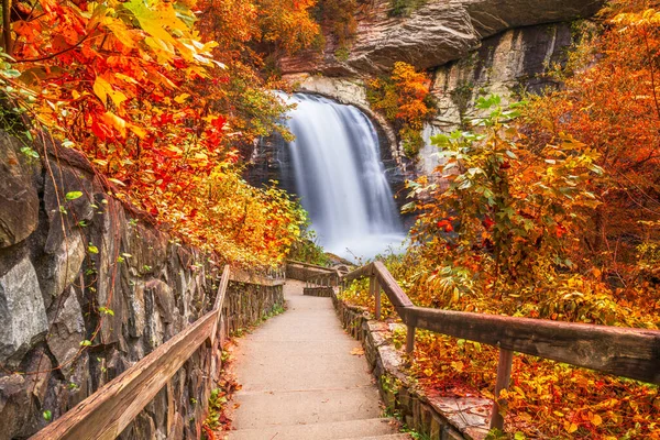
{"label": "streaked vertical rock face beneath the overhang, right of the waterfall", "polygon": [[426,146],[419,153],[418,173],[429,175],[438,165],[438,148],[430,139],[460,129],[479,116],[475,103],[480,97],[494,94],[507,103],[518,100],[524,91],[538,94],[557,87],[548,70],[565,61],[572,38],[570,23],[515,29],[484,40],[479,50],[436,68],[431,94],[438,114],[422,133]]}

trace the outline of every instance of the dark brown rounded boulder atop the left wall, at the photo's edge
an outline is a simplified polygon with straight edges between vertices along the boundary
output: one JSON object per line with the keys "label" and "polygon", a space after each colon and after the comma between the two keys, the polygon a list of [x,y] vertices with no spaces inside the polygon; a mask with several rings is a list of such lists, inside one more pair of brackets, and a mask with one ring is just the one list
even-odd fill
{"label": "dark brown rounded boulder atop the left wall, at the photo's edge", "polygon": [[38,160],[25,156],[20,146],[7,133],[0,134],[0,249],[25,240],[38,222],[38,196],[33,183]]}

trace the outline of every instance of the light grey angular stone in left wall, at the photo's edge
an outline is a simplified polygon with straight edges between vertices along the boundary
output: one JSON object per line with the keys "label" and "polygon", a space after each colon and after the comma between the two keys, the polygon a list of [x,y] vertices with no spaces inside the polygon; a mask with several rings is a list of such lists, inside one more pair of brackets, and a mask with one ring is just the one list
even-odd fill
{"label": "light grey angular stone in left wall, at the photo's edge", "polygon": [[0,363],[19,361],[48,331],[36,272],[23,257],[0,277]]}

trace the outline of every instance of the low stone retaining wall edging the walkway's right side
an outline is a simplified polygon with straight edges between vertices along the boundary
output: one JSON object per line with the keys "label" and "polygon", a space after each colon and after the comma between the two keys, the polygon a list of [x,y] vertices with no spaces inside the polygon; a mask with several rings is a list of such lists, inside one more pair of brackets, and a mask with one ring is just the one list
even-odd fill
{"label": "low stone retaining wall edging the walkway's right side", "polygon": [[[404,353],[392,344],[392,331],[405,326],[372,320],[369,314],[332,297],[342,326],[364,346],[387,411],[430,440],[482,440],[493,403],[476,397],[431,396],[417,389],[406,374]],[[405,330],[404,330],[405,331]]]}

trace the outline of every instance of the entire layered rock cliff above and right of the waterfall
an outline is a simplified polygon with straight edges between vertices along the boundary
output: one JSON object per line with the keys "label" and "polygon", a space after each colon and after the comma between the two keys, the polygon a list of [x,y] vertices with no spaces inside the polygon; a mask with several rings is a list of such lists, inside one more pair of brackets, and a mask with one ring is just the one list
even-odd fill
{"label": "entire layered rock cliff above and right of the waterfall", "polygon": [[[461,127],[480,96],[506,100],[556,86],[547,73],[565,61],[573,23],[602,6],[602,0],[429,0],[409,18],[392,18],[389,1],[374,0],[360,9],[346,59],[338,59],[329,36],[322,52],[285,58],[280,67],[299,91],[362,109],[382,128],[382,142],[389,146],[384,150],[405,176],[429,175],[438,165],[432,135]],[[397,61],[426,69],[438,101],[438,116],[422,133],[426,146],[414,161],[366,100],[365,78],[388,73]]]}

